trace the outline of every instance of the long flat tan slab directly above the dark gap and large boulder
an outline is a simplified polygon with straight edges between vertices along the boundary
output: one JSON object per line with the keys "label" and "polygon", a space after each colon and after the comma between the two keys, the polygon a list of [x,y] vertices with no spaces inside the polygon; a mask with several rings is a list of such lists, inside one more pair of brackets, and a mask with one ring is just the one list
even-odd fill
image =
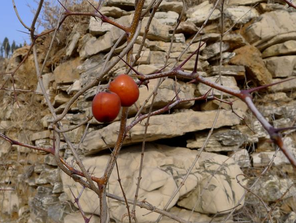
{"label": "long flat tan slab directly above the dark gap and large boulder", "polygon": [[[240,113],[240,112],[238,112]],[[185,132],[197,131],[212,126],[216,111],[192,111],[186,110],[180,113],[160,114],[151,116],[149,120],[149,127],[146,133],[146,141],[153,141],[160,138],[171,138],[183,135]],[[243,114],[240,114],[243,116]],[[184,119],[182,117],[186,116]],[[230,110],[221,110],[215,127],[232,126],[240,122],[240,118],[232,113]],[[127,119],[130,123],[132,118]],[[129,132],[129,137],[126,137],[123,144],[130,144],[142,140],[145,126],[143,124],[136,124]],[[112,122],[111,124],[86,134],[81,148],[84,154],[93,154],[102,149],[107,148],[106,144],[112,147],[117,139],[119,129],[119,122]],[[100,139],[103,137],[105,142]]]}

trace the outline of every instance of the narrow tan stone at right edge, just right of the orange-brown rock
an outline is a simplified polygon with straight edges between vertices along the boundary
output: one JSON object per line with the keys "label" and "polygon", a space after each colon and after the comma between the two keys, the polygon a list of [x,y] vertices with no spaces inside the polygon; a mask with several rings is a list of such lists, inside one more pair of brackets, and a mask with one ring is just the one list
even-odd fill
{"label": "narrow tan stone at right edge, just right of the orange-brown rock", "polygon": [[296,40],[288,40],[269,46],[262,52],[262,57],[289,55],[296,53]]}

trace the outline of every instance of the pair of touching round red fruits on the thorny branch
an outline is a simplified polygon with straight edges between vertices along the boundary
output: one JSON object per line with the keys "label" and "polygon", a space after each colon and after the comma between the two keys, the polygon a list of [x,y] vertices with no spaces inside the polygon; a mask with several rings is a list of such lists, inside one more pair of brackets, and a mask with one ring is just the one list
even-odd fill
{"label": "pair of touching round red fruits on the thorny branch", "polygon": [[99,122],[114,120],[120,106],[131,106],[139,96],[137,84],[127,74],[120,74],[112,80],[108,90],[97,93],[92,99],[92,114]]}

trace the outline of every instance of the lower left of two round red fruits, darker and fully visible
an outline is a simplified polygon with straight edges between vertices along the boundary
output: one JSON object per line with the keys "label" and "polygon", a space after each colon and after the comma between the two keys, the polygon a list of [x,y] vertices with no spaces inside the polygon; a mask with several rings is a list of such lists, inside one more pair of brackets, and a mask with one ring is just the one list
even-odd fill
{"label": "lower left of two round red fruits, darker and fully visible", "polygon": [[91,111],[99,122],[110,122],[117,117],[120,106],[120,98],[116,93],[99,92],[92,99]]}

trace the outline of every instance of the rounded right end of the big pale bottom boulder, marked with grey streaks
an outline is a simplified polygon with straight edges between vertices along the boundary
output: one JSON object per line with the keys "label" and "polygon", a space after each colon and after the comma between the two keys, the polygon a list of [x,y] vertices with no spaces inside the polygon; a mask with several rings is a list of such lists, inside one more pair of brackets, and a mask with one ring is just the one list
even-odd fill
{"label": "rounded right end of the big pale bottom boulder, marked with grey streaks", "polygon": [[[193,209],[201,213],[212,214],[225,210],[225,212],[230,212],[231,210],[228,208],[241,208],[242,205],[237,207],[236,205],[243,196],[244,189],[235,178],[238,174],[241,174],[240,168],[228,156],[210,152],[206,154],[207,158],[202,158],[203,160],[198,161],[198,163],[201,166],[204,165],[205,169],[202,176],[207,177],[199,180],[197,186],[181,197],[177,204],[189,210]],[[212,175],[213,172],[214,175]],[[238,180],[241,184],[246,184],[246,180],[242,176],[238,176]],[[196,202],[196,200],[199,202]],[[210,202],[208,202],[209,200]]]}

